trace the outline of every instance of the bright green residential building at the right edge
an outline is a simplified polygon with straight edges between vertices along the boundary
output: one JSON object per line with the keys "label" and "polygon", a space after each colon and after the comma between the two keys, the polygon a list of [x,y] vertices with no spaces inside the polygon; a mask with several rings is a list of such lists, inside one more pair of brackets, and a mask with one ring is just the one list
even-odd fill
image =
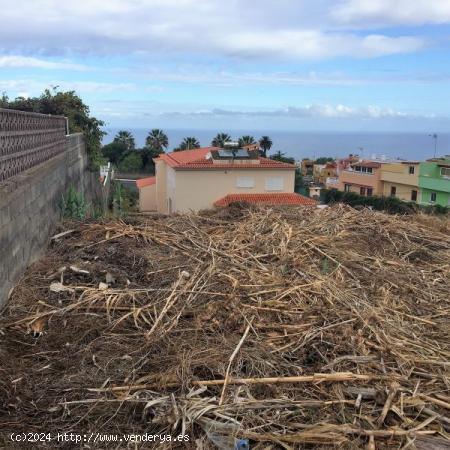
{"label": "bright green residential building at the right edge", "polygon": [[420,203],[450,206],[450,155],[420,163]]}

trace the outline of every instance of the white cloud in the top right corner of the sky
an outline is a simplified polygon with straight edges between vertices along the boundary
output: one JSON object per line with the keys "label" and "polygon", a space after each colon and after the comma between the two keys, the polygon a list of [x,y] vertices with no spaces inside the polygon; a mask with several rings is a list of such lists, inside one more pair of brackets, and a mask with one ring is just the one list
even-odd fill
{"label": "white cloud in the top right corner of the sky", "polygon": [[358,26],[450,23],[449,0],[345,0],[332,15]]}

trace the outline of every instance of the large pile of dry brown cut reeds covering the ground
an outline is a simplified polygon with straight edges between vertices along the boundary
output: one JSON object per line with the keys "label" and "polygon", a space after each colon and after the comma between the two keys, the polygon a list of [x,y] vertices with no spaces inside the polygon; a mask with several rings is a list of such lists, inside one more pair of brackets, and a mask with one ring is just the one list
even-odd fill
{"label": "large pile of dry brown cut reeds covering the ground", "polygon": [[448,220],[232,207],[64,230],[0,320],[0,435],[448,448]]}

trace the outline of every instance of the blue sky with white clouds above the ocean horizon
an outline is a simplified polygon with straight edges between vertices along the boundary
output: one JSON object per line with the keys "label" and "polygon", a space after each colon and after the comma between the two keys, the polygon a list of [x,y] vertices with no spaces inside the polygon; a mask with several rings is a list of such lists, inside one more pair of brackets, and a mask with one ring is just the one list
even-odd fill
{"label": "blue sky with white clouds above the ocean horizon", "polygon": [[116,128],[445,132],[450,0],[0,0],[0,93]]}

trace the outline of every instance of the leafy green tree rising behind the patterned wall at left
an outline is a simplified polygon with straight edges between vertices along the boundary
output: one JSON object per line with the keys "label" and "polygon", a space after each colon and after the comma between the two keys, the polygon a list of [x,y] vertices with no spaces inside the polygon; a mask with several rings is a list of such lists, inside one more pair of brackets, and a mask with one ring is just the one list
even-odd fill
{"label": "leafy green tree rising behind the patterned wall at left", "polygon": [[55,86],[51,90],[46,89],[39,97],[17,97],[12,101],[3,94],[2,107],[67,117],[69,132],[81,132],[85,136],[91,168],[97,169],[104,163],[101,153],[102,138],[105,135],[101,127],[104,123],[90,115],[89,107],[75,91],[60,92],[58,86]]}

